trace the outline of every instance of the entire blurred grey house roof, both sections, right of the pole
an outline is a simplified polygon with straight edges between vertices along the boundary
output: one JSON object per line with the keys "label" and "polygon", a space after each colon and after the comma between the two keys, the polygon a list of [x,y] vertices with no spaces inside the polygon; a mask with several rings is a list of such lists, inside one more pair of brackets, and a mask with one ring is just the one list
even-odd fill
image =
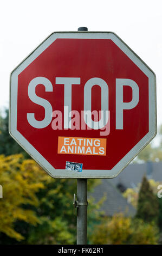
{"label": "entire blurred grey house roof, both sections, right of the pole", "polygon": [[100,210],[105,212],[106,216],[112,216],[118,212],[124,213],[125,216],[134,216],[135,209],[122,196],[117,186],[122,185],[125,188],[136,187],[143,176],[147,179],[154,179],[162,182],[162,162],[146,162],[129,164],[123,172],[113,179],[101,179],[101,184],[94,188],[91,193],[95,202],[106,196]]}

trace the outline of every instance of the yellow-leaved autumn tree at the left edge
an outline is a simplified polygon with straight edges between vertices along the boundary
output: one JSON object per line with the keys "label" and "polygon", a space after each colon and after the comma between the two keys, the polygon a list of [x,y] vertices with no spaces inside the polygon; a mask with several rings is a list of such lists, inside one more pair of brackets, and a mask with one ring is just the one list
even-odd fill
{"label": "yellow-leaved autumn tree at the left edge", "polygon": [[[20,241],[23,235],[14,229],[17,220],[36,225],[39,220],[34,211],[22,208],[22,205],[38,205],[35,193],[43,188],[43,175],[38,166],[35,174],[27,173],[27,160],[22,155],[0,156],[0,184],[3,198],[0,200],[0,232]],[[37,179],[38,178],[38,179]]]}

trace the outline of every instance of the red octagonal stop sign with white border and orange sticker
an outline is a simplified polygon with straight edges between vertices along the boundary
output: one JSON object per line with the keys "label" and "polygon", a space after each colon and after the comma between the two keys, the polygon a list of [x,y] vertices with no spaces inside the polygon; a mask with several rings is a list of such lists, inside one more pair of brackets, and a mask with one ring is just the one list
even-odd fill
{"label": "red octagonal stop sign with white border and orange sticker", "polygon": [[10,134],[54,178],[113,178],[155,136],[155,101],[153,71],[117,35],[57,32],[11,73]]}

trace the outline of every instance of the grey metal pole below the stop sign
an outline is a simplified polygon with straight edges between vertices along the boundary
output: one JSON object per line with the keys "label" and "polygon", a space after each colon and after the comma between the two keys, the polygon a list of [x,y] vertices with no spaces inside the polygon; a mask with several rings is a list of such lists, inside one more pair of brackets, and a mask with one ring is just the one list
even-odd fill
{"label": "grey metal pole below the stop sign", "polygon": [[77,179],[77,245],[87,244],[87,179]]}

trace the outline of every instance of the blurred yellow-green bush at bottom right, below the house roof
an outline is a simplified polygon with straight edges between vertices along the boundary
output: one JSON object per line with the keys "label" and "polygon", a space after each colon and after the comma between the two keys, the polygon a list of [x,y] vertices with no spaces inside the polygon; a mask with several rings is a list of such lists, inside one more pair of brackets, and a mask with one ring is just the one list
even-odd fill
{"label": "blurred yellow-green bush at bottom right, below the house roof", "polygon": [[90,239],[96,245],[155,245],[159,239],[158,232],[152,223],[116,214],[97,225]]}

